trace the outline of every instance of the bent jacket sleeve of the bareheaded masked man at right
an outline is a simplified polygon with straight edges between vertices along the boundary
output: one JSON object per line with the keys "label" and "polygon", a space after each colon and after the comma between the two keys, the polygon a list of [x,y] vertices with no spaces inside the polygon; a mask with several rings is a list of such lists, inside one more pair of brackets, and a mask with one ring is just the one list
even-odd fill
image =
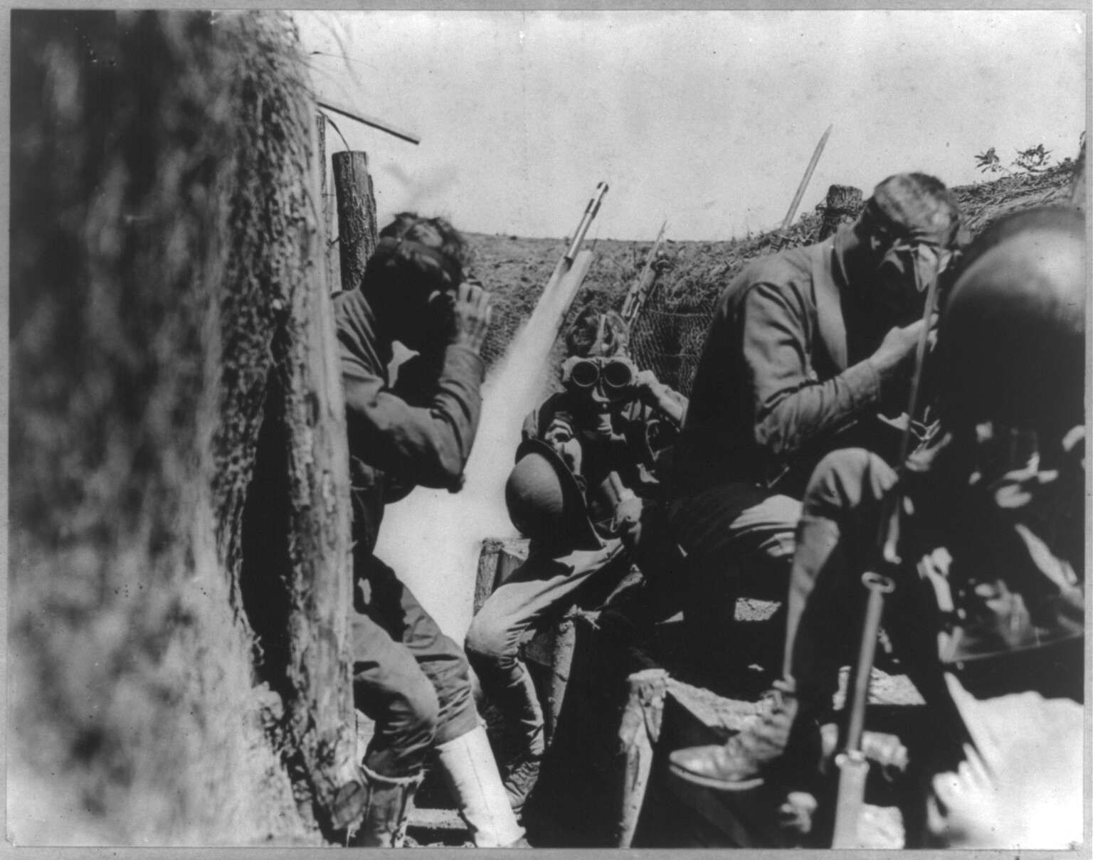
{"label": "bent jacket sleeve of the bareheaded masked man at right", "polygon": [[755,441],[777,457],[846,429],[880,402],[880,377],[868,362],[825,381],[811,373],[804,309],[790,296],[759,283],[742,303]]}

